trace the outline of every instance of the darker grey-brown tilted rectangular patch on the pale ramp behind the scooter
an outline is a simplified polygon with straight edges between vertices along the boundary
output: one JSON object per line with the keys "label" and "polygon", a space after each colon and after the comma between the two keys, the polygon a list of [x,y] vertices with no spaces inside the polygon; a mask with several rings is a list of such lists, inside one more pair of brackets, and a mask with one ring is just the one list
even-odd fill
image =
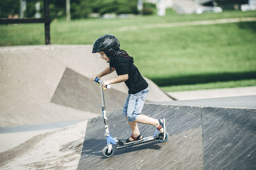
{"label": "darker grey-brown tilted rectangular patch on the pale ramp behind the scooter", "polygon": [[[105,94],[107,111],[122,108],[127,94],[109,89]],[[52,96],[51,102],[77,110],[100,113],[100,89],[97,83],[67,68]]]}

